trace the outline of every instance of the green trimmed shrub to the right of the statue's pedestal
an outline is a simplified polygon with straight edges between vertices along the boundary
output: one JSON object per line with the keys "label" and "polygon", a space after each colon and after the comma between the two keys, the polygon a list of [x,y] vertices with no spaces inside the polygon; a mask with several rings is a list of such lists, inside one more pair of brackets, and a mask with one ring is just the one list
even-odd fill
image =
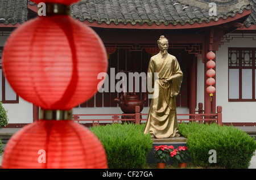
{"label": "green trimmed shrub to the right of the statue's pedestal", "polygon": [[[179,130],[188,138],[188,151],[197,166],[248,168],[256,149],[254,138],[233,126],[192,122],[181,123]],[[211,149],[216,151],[216,163],[209,162]]]}

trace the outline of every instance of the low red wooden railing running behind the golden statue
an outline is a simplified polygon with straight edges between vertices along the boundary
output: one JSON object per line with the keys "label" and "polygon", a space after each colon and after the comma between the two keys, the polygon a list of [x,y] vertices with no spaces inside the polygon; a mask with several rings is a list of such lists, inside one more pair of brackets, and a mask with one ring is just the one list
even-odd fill
{"label": "low red wooden railing running behind the golden statue", "polygon": [[[142,118],[143,116],[147,117],[147,115],[148,114],[140,113],[139,106],[136,106],[134,114],[73,114],[73,121],[76,121],[78,123],[83,122],[83,124],[87,124],[88,126],[98,126],[104,123],[121,123],[125,121],[141,123],[141,121],[147,120],[147,118]],[[179,118],[181,115],[188,116],[189,118]],[[177,121],[179,123],[183,121],[195,121],[199,123],[214,121],[218,125],[222,126],[222,107],[217,106],[217,113],[204,114],[203,104],[199,103],[199,110],[197,111],[197,114],[177,114],[177,118]]]}

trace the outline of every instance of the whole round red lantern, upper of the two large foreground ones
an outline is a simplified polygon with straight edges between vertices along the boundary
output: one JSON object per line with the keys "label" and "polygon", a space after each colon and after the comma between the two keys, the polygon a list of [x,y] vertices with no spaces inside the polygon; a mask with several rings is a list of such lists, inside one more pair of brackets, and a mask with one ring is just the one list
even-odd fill
{"label": "whole round red lantern, upper of the two large foreground ones", "polygon": [[97,92],[108,60],[104,44],[69,15],[40,16],[7,40],[2,67],[14,91],[42,109],[69,110]]}

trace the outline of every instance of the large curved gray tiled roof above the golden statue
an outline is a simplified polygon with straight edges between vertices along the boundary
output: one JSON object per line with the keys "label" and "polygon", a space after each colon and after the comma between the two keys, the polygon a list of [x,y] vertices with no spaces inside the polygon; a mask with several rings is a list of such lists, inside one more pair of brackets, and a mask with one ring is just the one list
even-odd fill
{"label": "large curved gray tiled roof above the golden statue", "polygon": [[[194,0],[195,1],[195,0]],[[252,0],[256,1],[256,0]],[[241,2],[239,2],[241,3]],[[241,7],[227,12],[218,12],[216,16],[209,16],[209,8],[200,8],[179,0],[88,0],[72,5],[73,18],[81,21],[105,22],[106,24],[144,24],[151,25],[195,22],[210,22],[218,19],[226,19],[242,13],[244,9],[250,9],[249,4],[243,3]]]}

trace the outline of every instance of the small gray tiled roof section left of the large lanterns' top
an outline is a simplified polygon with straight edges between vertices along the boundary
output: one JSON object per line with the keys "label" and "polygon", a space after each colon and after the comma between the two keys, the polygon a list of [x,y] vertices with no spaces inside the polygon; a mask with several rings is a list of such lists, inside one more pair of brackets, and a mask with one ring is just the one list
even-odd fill
{"label": "small gray tiled roof section left of the large lanterns' top", "polygon": [[0,0],[0,23],[23,23],[27,20],[27,12],[27,1]]}

